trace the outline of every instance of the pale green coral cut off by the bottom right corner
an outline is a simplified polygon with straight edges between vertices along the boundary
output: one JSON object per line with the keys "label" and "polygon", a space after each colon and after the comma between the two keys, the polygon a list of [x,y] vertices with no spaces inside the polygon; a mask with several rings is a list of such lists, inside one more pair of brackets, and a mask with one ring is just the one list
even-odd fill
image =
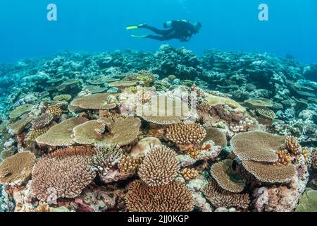
{"label": "pale green coral cut off by the bottom right corner", "polygon": [[317,190],[306,189],[301,198],[296,212],[317,212]]}

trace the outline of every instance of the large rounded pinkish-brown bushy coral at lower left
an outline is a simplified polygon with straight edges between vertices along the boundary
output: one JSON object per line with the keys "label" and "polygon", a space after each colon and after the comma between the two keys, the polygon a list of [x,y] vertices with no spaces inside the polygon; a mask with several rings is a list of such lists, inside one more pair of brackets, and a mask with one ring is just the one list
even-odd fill
{"label": "large rounded pinkish-brown bushy coral at lower left", "polygon": [[90,155],[79,152],[60,150],[37,162],[32,171],[31,191],[39,201],[47,201],[52,189],[56,198],[75,198],[92,182],[95,173],[89,165]]}

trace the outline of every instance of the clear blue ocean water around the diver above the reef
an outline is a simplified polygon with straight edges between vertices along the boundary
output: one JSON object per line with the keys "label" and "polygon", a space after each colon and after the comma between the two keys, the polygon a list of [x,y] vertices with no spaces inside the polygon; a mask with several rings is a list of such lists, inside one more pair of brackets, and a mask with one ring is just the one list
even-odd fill
{"label": "clear blue ocean water around the diver above the reef", "polygon": [[[268,21],[258,19],[262,3],[269,7]],[[48,4],[56,4],[57,21],[46,19]],[[196,54],[211,48],[259,50],[317,62],[316,0],[2,0],[0,63],[60,50],[156,50],[161,42],[133,39],[125,25],[162,28],[163,22],[174,19],[202,23],[190,42],[168,41]]]}

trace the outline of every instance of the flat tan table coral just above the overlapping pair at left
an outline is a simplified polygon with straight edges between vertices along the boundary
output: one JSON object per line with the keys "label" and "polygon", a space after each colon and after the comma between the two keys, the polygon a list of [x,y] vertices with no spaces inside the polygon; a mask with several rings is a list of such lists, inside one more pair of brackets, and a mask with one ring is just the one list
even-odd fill
{"label": "flat tan table coral just above the overlapping pair at left", "polygon": [[[113,109],[117,105],[108,102],[109,96],[116,96],[115,93],[98,93],[77,98],[70,102],[70,107],[77,109]],[[77,109],[75,111],[77,111]]]}

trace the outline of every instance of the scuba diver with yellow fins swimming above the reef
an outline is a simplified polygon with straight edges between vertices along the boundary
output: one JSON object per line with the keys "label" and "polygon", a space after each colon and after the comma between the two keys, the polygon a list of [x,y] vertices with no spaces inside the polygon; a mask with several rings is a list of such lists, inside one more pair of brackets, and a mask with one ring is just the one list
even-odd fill
{"label": "scuba diver with yellow fins swimming above the reef", "polygon": [[144,28],[155,32],[157,35],[131,35],[137,38],[151,38],[153,40],[166,41],[178,39],[180,42],[188,42],[192,35],[195,35],[201,29],[201,23],[190,23],[187,20],[171,20],[163,24],[166,30],[160,30],[151,27],[145,23],[139,25],[130,25],[127,30]]}

